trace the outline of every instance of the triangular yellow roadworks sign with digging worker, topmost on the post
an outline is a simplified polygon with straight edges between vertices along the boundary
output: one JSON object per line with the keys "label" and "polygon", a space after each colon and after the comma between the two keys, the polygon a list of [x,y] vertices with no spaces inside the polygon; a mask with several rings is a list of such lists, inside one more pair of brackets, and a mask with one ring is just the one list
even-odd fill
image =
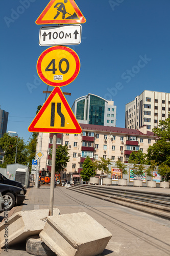
{"label": "triangular yellow roadworks sign with digging worker, topmost on the post", "polygon": [[86,19],[74,0],[51,0],[36,20],[41,24],[77,24]]}

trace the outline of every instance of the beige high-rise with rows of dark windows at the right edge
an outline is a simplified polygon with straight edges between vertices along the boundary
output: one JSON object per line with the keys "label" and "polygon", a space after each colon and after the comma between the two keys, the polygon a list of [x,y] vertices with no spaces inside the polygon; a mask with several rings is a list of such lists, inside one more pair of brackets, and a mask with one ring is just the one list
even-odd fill
{"label": "beige high-rise with rows of dark windows at the right edge", "polygon": [[170,112],[170,93],[143,91],[135,100],[126,104],[125,128],[137,129],[147,125],[147,130],[157,128]]}

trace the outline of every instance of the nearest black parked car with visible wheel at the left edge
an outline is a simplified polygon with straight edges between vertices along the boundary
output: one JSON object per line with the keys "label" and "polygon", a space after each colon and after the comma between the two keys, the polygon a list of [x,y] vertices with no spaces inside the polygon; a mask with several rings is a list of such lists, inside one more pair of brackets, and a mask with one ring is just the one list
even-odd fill
{"label": "nearest black parked car with visible wheel at the left edge", "polygon": [[23,189],[16,186],[7,184],[0,184],[0,192],[5,200],[8,200],[6,208],[11,210],[15,205],[20,205],[25,200]]}

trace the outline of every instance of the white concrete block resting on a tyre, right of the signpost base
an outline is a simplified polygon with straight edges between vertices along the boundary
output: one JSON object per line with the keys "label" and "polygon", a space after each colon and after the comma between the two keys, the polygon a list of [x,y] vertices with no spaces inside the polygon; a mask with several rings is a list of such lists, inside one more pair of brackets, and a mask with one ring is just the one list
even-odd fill
{"label": "white concrete block resting on a tyre, right of the signpost base", "polygon": [[95,256],[112,234],[86,212],[50,216],[39,236],[58,256]]}

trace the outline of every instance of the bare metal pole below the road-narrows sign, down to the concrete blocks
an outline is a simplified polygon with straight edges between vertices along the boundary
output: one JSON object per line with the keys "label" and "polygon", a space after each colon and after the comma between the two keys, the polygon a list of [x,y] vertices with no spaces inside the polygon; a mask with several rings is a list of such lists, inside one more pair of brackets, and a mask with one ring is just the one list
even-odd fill
{"label": "bare metal pole below the road-narrows sign, down to the concrete blocks", "polygon": [[57,143],[57,134],[53,134],[53,150],[52,150],[52,171],[51,171],[51,184],[50,184],[50,207],[48,216],[53,215],[53,205],[54,205],[54,176],[55,176],[55,167],[56,167],[56,143]]}

